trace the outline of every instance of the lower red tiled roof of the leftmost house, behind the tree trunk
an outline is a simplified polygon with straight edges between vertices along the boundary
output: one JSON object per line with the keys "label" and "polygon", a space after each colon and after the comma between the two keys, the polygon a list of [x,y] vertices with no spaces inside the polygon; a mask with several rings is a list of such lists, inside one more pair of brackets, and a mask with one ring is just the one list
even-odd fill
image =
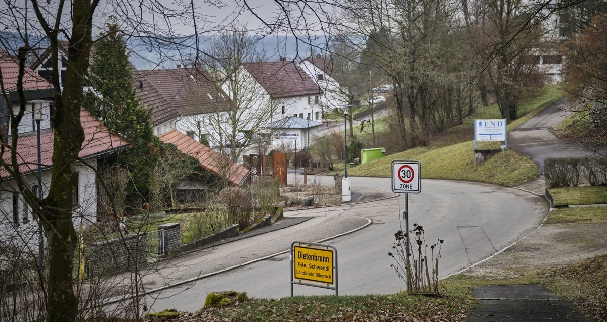
{"label": "lower red tiled roof of the leftmost house, behind the tree trunk", "polygon": [[[84,128],[84,142],[82,150],[78,153],[81,159],[109,153],[110,151],[128,146],[129,143],[114,133],[110,133],[98,119],[95,119],[86,110],[80,110],[80,122]],[[45,131],[40,136],[42,169],[52,166],[53,156],[53,131]],[[10,141],[8,146],[10,146]],[[5,148],[2,158],[10,164],[10,150]],[[29,173],[36,171],[38,166],[38,136],[36,134],[19,137],[17,142],[17,160],[19,160],[19,172]],[[10,174],[4,167],[0,167],[0,177],[10,178]]]}

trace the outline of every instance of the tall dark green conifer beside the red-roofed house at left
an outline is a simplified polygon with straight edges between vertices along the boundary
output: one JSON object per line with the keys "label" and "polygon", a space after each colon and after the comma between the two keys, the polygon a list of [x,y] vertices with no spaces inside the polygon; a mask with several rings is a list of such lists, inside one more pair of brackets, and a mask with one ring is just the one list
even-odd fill
{"label": "tall dark green conifer beside the red-roofed house at left", "polygon": [[92,91],[86,93],[85,107],[115,133],[131,142],[118,154],[118,162],[129,169],[137,194],[147,198],[151,173],[158,163],[160,140],[154,135],[152,113],[139,105],[132,85],[132,68],[126,40],[115,18],[106,22],[107,31],[93,47],[89,70]]}

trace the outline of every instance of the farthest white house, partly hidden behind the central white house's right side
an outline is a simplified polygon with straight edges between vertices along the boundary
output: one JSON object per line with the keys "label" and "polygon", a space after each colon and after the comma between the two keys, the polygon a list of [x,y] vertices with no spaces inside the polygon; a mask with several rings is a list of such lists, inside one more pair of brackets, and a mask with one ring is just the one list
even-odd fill
{"label": "farthest white house, partly hidden behind the central white house's right side", "polygon": [[342,85],[339,82],[341,75],[330,56],[316,54],[316,56],[301,61],[299,66],[322,90],[320,108],[324,113],[348,103],[346,91],[342,90]]}

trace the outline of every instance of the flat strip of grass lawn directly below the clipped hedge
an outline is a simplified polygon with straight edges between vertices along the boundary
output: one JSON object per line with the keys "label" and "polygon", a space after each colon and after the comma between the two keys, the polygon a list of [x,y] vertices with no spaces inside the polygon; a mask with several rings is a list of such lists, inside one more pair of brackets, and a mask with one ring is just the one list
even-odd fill
{"label": "flat strip of grass lawn directly below the clipped hedge", "polygon": [[555,206],[607,203],[607,186],[581,186],[548,189]]}

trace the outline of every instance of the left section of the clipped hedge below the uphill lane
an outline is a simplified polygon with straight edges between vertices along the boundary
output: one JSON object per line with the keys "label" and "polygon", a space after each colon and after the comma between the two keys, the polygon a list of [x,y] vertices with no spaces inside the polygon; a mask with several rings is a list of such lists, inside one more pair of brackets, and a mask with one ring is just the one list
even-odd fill
{"label": "left section of the clipped hedge below the uphill lane", "polygon": [[580,183],[580,159],[560,157],[544,160],[544,176],[550,188],[577,186]]}

